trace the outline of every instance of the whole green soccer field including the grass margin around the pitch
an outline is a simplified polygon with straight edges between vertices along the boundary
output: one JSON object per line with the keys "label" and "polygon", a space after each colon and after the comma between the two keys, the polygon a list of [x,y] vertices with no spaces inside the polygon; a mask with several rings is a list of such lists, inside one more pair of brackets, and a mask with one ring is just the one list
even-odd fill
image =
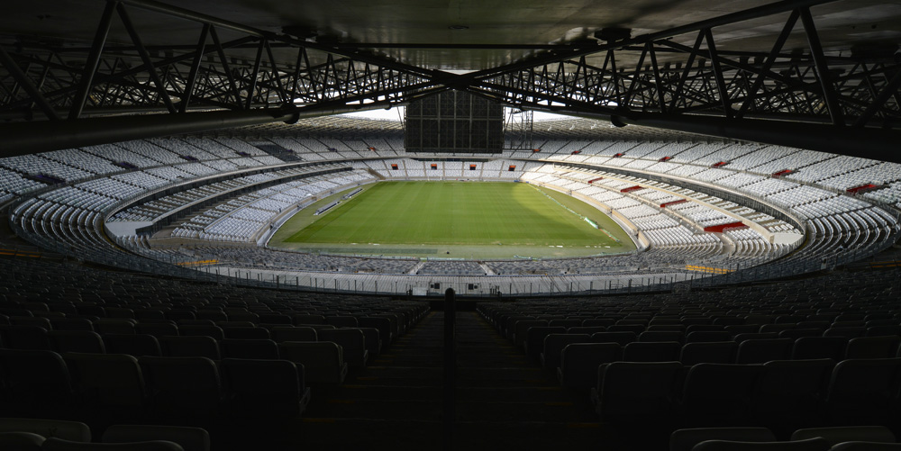
{"label": "whole green soccer field including the grass margin around the pitch", "polygon": [[578,257],[634,248],[625,232],[595,207],[527,184],[380,182],[315,216],[318,207],[287,221],[270,245],[328,253],[474,258]]}

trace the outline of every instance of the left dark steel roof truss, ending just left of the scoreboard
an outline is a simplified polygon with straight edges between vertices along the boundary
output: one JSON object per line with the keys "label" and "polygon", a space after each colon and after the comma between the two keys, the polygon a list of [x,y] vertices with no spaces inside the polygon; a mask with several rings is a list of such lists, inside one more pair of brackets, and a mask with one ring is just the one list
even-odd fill
{"label": "left dark steel roof truss, ending just left of the scoreboard", "polygon": [[[133,10],[190,21],[197,41],[147,45]],[[131,38],[127,45],[106,42],[116,21]],[[432,85],[425,69],[128,0],[107,3],[90,47],[29,44],[13,53],[0,47],[0,62],[0,112],[41,113],[51,121],[86,113],[393,104]]]}

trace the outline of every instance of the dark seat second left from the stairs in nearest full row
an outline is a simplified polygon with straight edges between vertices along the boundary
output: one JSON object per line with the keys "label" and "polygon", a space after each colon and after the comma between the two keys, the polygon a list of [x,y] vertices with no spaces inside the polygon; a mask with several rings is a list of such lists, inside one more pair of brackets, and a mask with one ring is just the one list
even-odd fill
{"label": "dark seat second left from the stairs in nearest full row", "polygon": [[205,423],[221,413],[222,382],[209,358],[143,356],[139,361],[158,416]]}

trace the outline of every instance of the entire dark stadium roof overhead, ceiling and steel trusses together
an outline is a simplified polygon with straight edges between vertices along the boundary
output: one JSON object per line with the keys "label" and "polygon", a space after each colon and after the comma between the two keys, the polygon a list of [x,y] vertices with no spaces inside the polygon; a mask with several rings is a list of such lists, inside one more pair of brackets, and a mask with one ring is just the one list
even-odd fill
{"label": "entire dark stadium roof overhead, ceiling and steel trusses together", "polygon": [[901,159],[901,5],[884,0],[4,6],[0,119],[30,122],[0,124],[7,154],[458,89],[620,126]]}

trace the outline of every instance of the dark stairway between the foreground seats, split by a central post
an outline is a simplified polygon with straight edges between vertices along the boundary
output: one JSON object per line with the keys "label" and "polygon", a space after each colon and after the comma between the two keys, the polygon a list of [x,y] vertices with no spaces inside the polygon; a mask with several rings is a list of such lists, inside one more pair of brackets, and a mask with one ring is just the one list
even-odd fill
{"label": "dark stairway between the foreground seats, split by a central post", "polygon": [[[315,391],[291,442],[309,449],[442,449],[442,329],[432,311],[341,387]],[[452,449],[597,449],[587,397],[502,338],[476,312],[458,313]]]}

